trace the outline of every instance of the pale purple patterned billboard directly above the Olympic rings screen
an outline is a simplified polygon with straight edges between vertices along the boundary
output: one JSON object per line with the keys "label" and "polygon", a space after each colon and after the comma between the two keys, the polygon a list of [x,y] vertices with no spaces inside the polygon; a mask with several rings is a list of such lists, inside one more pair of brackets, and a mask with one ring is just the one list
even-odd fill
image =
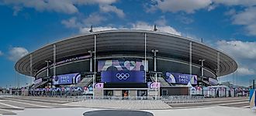
{"label": "pale purple patterned billboard directly above the Olympic rings screen", "polygon": [[[146,71],[148,70],[146,61]],[[145,60],[99,60],[98,71],[137,70],[144,71]]]}

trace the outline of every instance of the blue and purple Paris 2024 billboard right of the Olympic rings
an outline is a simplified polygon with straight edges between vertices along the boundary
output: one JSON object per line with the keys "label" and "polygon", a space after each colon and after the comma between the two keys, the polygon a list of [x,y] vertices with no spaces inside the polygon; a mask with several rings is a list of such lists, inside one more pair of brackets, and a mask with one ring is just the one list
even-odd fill
{"label": "blue and purple Paris 2024 billboard right of the Olympic rings", "polygon": [[184,73],[166,73],[165,80],[171,84],[197,84],[197,76]]}

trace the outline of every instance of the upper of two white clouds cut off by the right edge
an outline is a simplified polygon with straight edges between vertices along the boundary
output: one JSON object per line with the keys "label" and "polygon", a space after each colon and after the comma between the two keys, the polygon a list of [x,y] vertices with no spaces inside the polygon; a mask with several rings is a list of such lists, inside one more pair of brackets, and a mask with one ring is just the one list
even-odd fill
{"label": "upper of two white clouds cut off by the right edge", "polygon": [[244,26],[248,35],[256,36],[256,7],[250,7],[243,12],[233,15],[233,23],[235,25]]}

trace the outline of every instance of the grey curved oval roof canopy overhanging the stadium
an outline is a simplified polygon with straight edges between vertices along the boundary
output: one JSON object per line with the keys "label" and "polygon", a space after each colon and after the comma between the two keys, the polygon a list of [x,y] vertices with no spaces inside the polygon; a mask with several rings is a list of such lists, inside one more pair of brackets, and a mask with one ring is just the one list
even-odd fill
{"label": "grey curved oval roof canopy overhanging the stadium", "polygon": [[16,63],[15,68],[19,73],[29,76],[30,56],[32,56],[31,70],[40,70],[46,67],[46,60],[54,60],[54,45],[56,46],[57,60],[63,60],[64,57],[87,54],[89,50],[94,49],[95,36],[97,56],[104,53],[138,53],[143,55],[145,33],[147,36],[147,54],[152,54],[151,49],[157,49],[159,51],[157,56],[171,57],[189,62],[189,46],[190,42],[192,42],[192,63],[201,65],[199,60],[205,60],[204,67],[217,72],[217,54],[220,53],[219,76],[227,75],[237,70],[237,63],[234,59],[203,43],[170,33],[134,29],[92,32],[63,39],[23,56]]}

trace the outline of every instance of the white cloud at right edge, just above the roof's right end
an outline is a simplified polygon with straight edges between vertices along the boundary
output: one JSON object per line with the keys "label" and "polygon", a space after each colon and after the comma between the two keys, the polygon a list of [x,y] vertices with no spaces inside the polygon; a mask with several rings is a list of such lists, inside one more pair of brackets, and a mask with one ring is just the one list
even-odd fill
{"label": "white cloud at right edge, just above the roof's right end", "polygon": [[221,40],[217,42],[217,48],[229,53],[237,59],[256,59],[256,42]]}

